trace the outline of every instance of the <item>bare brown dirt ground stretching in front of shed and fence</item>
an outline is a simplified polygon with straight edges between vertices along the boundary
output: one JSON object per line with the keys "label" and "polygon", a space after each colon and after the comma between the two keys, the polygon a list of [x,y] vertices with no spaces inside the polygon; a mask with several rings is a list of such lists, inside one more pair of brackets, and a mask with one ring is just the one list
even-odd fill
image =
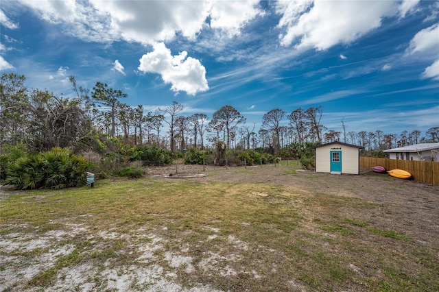
{"label": "bare brown dirt ground stretching in front of shed and fence", "polygon": [[[295,164],[296,162],[292,162]],[[361,169],[359,175],[316,173],[297,169],[285,175],[289,167],[263,165],[250,167],[215,167],[202,165],[177,166],[177,173],[211,173],[203,178],[188,178],[193,182],[262,183],[298,188],[308,193],[330,193],[336,197],[364,199],[373,204],[382,204],[388,213],[371,211],[361,215],[355,210],[340,210],[346,217],[367,219],[385,228],[391,226],[421,241],[439,243],[439,186],[392,178],[387,173],[375,173]],[[165,180],[164,175],[176,171],[176,166],[152,167],[148,176]],[[254,195],[267,197],[266,193]]]}

